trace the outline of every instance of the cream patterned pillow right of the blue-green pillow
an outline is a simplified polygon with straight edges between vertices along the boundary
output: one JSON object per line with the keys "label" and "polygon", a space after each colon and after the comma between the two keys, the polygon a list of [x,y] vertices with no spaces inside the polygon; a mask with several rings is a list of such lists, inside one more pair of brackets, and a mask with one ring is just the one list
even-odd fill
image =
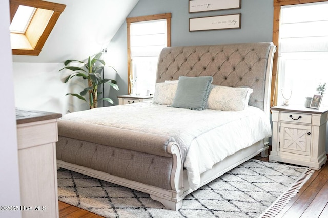
{"label": "cream patterned pillow right of the blue-green pillow", "polygon": [[214,86],[208,99],[208,108],[221,111],[245,110],[253,89],[246,87]]}

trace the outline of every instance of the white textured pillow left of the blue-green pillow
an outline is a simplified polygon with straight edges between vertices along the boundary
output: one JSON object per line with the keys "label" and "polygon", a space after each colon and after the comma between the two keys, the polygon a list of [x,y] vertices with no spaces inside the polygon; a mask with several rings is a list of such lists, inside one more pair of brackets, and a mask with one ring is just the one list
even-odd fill
{"label": "white textured pillow left of the blue-green pillow", "polygon": [[153,104],[171,105],[178,87],[177,83],[156,83]]}

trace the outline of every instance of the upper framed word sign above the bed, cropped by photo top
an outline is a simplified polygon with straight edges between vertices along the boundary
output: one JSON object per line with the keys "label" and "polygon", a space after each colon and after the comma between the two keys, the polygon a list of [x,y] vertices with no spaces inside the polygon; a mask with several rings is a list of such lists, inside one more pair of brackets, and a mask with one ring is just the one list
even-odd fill
{"label": "upper framed word sign above the bed, cropped by photo top", "polygon": [[189,0],[189,13],[241,8],[241,0]]}

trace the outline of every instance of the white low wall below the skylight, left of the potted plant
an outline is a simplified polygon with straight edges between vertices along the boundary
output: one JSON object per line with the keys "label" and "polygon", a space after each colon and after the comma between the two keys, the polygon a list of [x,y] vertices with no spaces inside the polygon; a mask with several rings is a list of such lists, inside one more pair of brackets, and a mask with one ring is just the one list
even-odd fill
{"label": "white low wall below the skylight, left of the potted plant", "polygon": [[16,107],[61,114],[88,109],[84,101],[65,96],[79,93],[87,82],[76,77],[64,83],[72,71],[59,72],[63,67],[63,63],[13,63]]}

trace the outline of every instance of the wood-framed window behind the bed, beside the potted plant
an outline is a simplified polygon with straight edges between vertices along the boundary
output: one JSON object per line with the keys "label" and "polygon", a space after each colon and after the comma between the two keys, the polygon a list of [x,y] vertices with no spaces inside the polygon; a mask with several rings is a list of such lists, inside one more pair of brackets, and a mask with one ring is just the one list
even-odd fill
{"label": "wood-framed window behind the bed, beside the potted plant", "polygon": [[127,18],[129,94],[155,91],[158,56],[171,46],[171,14]]}

